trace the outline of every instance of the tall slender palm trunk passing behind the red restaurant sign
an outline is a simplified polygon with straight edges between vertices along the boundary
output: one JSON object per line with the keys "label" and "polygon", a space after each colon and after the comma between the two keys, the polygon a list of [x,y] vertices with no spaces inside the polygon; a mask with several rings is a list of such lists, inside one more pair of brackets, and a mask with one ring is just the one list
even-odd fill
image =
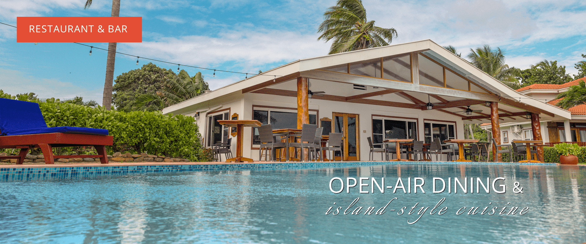
{"label": "tall slender palm trunk passing behind the red restaurant sign", "polygon": [[[91,6],[91,0],[86,1],[84,9]],[[112,0],[112,17],[118,17],[120,14],[120,0]],[[108,43],[108,58],[106,59],[106,78],[104,82],[104,94],[102,98],[102,106],[106,110],[110,110],[112,106],[112,85],[114,84],[114,62],[116,60],[116,43]]]}

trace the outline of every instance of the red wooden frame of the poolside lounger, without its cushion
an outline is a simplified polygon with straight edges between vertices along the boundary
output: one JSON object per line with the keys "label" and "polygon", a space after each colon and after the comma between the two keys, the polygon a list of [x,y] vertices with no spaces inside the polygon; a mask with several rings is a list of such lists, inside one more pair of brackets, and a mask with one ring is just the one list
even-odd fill
{"label": "red wooden frame of the poolside lounger, without its cushion", "polygon": [[[0,148],[19,148],[18,156],[0,156],[0,159],[18,159],[16,164],[25,161],[31,148],[40,147],[45,156],[45,164],[54,164],[54,159],[74,157],[99,157],[101,163],[108,163],[105,146],[112,146],[114,136],[87,135],[74,133],[46,133],[32,135],[0,136]],[[53,147],[93,146],[99,155],[53,155]]]}

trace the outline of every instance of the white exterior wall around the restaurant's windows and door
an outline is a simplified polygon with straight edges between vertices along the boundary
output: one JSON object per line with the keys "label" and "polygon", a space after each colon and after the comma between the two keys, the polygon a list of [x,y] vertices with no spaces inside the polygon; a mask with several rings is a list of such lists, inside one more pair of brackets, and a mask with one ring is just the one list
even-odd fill
{"label": "white exterior wall around the restaurant's windows and door", "polygon": [[[236,94],[229,98],[214,100],[217,102],[210,102],[206,104],[206,108],[214,108],[222,105],[222,108],[216,111],[202,111],[200,112],[197,124],[202,134],[203,142],[206,141],[207,132],[207,115],[214,114],[222,109],[230,108],[230,115],[237,113],[239,119],[252,119],[253,116],[253,105],[263,106],[277,106],[295,109],[297,112],[297,98],[296,97],[283,97],[278,95],[267,95],[267,94]],[[222,104],[222,102],[224,102]],[[201,111],[206,108],[193,108],[192,111],[185,112],[183,114],[193,116],[195,112]],[[367,137],[372,136],[372,115],[387,115],[387,116],[400,116],[415,118],[418,120],[417,124],[417,138],[418,140],[424,140],[424,120],[435,119],[442,121],[455,122],[456,126],[456,138],[464,138],[464,123],[458,116],[446,114],[440,111],[426,111],[419,109],[406,109],[406,108],[394,108],[389,106],[380,105],[368,105],[368,104],[356,104],[350,102],[335,102],[321,99],[309,99],[309,109],[318,109],[317,119],[327,117],[333,119],[332,113],[346,113],[346,114],[358,114],[359,115],[359,135],[360,135],[360,160],[368,160],[369,145]],[[243,156],[250,157],[251,159],[258,160],[258,150],[251,150],[252,141],[252,130],[244,128],[244,141],[243,141]],[[232,152],[236,152],[236,138],[232,140]],[[379,156],[380,157],[380,154]],[[434,158],[435,159],[435,158]]]}

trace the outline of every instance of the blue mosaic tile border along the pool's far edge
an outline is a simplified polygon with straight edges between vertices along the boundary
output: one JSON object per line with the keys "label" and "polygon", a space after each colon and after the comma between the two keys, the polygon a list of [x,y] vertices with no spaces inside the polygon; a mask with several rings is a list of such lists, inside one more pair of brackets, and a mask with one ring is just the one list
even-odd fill
{"label": "blue mosaic tile border along the pool's far edge", "polygon": [[96,176],[123,176],[127,174],[178,173],[189,171],[219,170],[274,170],[274,169],[321,169],[335,167],[358,167],[384,164],[478,164],[478,165],[541,165],[557,166],[553,163],[495,163],[495,162],[430,162],[430,161],[364,161],[364,162],[302,162],[302,163],[242,163],[242,164],[185,164],[147,166],[93,166],[93,167],[44,167],[44,168],[0,168],[0,181],[51,180],[56,178],[80,178]]}

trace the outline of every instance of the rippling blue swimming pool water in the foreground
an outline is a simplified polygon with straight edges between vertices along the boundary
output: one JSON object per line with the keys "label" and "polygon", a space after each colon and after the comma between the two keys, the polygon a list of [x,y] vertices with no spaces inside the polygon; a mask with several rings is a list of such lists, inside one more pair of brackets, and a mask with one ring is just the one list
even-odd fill
{"label": "rippling blue swimming pool water in the foreground", "polygon": [[[335,194],[334,177],[385,178]],[[397,190],[401,177],[411,193]],[[423,179],[421,193],[413,180]],[[433,177],[486,177],[506,193],[431,193]],[[422,180],[418,180],[421,183]],[[440,181],[437,181],[439,183]],[[523,193],[514,193],[515,182]],[[352,183],[352,180],[350,180]],[[468,182],[469,184],[469,182]],[[387,164],[329,169],[222,170],[0,182],[2,243],[583,243],[586,167]],[[438,185],[439,186],[439,185]],[[452,192],[453,192],[452,185]],[[340,188],[339,180],[332,184]],[[384,188],[384,187],[383,187]],[[468,191],[470,187],[468,185]],[[381,215],[347,214],[384,207]],[[430,209],[445,198],[440,208]],[[333,204],[336,202],[336,204]],[[408,215],[411,207],[417,207]],[[507,204],[509,203],[509,204]],[[528,207],[524,215],[468,215],[469,207]],[[343,207],[338,215],[326,210]],[[406,207],[401,215],[400,209]],[[420,215],[421,207],[429,207]],[[466,207],[464,214],[456,211]],[[394,211],[392,211],[394,209]],[[416,219],[414,224],[408,224]]]}

